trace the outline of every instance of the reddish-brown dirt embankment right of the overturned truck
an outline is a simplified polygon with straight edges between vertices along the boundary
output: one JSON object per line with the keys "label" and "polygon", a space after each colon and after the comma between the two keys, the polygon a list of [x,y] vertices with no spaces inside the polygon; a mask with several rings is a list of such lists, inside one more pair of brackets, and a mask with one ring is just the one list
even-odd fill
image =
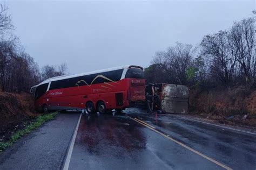
{"label": "reddish-brown dirt embankment right of the overturned truck", "polygon": [[191,90],[190,113],[219,123],[255,128],[256,90],[247,90],[244,87]]}

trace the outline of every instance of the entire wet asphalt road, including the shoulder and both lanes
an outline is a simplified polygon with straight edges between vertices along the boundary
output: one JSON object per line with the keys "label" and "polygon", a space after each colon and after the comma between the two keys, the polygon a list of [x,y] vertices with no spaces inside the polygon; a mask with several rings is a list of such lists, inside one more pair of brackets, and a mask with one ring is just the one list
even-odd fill
{"label": "entire wet asphalt road, including the shoulder and both lanes", "polygon": [[256,134],[125,113],[83,114],[79,123],[80,114],[60,114],[0,153],[0,169],[256,169]]}

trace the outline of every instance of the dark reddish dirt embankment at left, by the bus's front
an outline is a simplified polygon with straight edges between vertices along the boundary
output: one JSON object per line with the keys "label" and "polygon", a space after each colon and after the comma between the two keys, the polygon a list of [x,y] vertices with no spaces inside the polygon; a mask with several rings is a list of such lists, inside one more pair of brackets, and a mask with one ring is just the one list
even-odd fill
{"label": "dark reddish dirt embankment at left, by the bus's front", "polygon": [[[37,116],[30,94],[12,94],[0,91],[0,137],[21,129],[24,123]],[[3,139],[0,139],[3,140]]]}

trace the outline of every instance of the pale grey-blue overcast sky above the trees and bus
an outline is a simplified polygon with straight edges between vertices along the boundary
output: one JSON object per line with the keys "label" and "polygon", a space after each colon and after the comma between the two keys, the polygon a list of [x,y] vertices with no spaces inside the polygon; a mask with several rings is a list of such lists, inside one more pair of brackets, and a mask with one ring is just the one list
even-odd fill
{"label": "pale grey-blue overcast sky above the trees and bus", "polygon": [[5,1],[14,33],[38,63],[71,74],[149,66],[156,51],[252,16],[252,1]]}

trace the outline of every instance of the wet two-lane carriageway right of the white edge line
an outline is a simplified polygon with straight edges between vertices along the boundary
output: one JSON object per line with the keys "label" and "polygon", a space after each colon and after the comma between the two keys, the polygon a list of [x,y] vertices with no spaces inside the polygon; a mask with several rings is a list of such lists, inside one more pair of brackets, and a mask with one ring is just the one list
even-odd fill
{"label": "wet two-lane carriageway right of the white edge line", "polygon": [[136,109],[125,112],[82,116],[70,169],[256,168],[256,136],[253,134],[172,115],[148,115]]}

